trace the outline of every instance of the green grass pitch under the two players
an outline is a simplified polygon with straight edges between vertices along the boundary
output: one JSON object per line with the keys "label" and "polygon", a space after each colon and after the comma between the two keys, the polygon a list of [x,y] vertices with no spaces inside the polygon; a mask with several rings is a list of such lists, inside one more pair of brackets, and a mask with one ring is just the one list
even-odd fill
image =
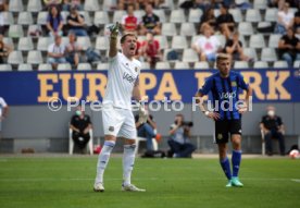
{"label": "green grass pitch under the two players", "polygon": [[300,207],[300,160],[243,159],[242,188],[225,188],[217,159],[137,159],[121,192],[122,158],[113,157],[105,192],[93,193],[97,157],[0,157],[1,208],[293,208]]}

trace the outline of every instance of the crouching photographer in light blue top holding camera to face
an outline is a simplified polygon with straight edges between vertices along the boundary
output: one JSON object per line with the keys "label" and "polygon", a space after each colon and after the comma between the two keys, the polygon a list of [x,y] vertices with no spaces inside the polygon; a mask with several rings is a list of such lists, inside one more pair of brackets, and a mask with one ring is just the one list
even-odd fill
{"label": "crouching photographer in light blue top holding camera to face", "polygon": [[185,122],[183,114],[177,114],[175,117],[175,121],[171,125],[168,132],[170,139],[167,144],[171,148],[167,152],[168,157],[191,158],[191,154],[196,150],[195,145],[189,140],[191,126],[191,123],[187,124]]}

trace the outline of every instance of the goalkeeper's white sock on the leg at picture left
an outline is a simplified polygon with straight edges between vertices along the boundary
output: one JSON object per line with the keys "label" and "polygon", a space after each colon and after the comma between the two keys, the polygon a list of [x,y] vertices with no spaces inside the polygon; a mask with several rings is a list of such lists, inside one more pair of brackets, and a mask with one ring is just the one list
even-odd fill
{"label": "goalkeeper's white sock on the leg at picture left", "polygon": [[98,163],[97,163],[97,176],[95,183],[103,183],[103,174],[104,170],[109,163],[111,152],[115,142],[113,140],[105,140],[101,152],[99,154]]}

